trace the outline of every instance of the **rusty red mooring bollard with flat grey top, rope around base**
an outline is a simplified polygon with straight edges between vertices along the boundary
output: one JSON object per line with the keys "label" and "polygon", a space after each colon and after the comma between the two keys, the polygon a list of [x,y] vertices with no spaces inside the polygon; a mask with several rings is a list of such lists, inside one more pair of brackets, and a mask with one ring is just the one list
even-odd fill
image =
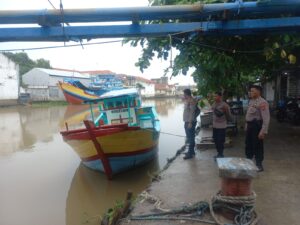
{"label": "rusty red mooring bollard with flat grey top, rope around base", "polygon": [[[227,219],[237,222],[244,219],[241,217],[249,215],[249,224],[256,224],[257,215],[254,211],[256,195],[252,190],[252,179],[257,175],[257,167],[251,160],[245,158],[218,158],[217,164],[221,190],[213,197],[212,205],[226,205],[221,207],[220,213]],[[213,208],[212,206],[212,213]],[[232,210],[234,208],[236,210]],[[213,217],[217,224],[221,224],[214,213]]]}

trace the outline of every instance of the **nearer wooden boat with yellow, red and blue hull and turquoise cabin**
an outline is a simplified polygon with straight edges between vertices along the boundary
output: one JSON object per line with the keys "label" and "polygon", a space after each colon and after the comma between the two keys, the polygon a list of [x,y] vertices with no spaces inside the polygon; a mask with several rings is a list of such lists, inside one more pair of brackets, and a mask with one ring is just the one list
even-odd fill
{"label": "nearer wooden boat with yellow, red and blue hull and turquoise cabin", "polygon": [[[61,132],[85,166],[111,179],[156,156],[160,122],[154,107],[141,106],[136,89],[110,91],[86,102],[92,121],[84,121],[86,128]],[[94,104],[98,104],[98,115]]]}

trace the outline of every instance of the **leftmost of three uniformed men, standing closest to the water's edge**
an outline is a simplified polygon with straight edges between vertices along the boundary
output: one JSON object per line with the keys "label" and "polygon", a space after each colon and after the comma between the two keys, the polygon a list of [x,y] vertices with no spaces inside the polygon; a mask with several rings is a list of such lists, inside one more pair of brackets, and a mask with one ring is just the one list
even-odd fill
{"label": "leftmost of three uniformed men, standing closest to the water's edge", "polygon": [[195,116],[197,101],[192,96],[190,89],[183,90],[184,94],[184,110],[183,121],[184,129],[186,133],[187,143],[189,144],[189,150],[185,154],[184,159],[191,159],[195,156],[195,128],[197,124],[197,118]]}

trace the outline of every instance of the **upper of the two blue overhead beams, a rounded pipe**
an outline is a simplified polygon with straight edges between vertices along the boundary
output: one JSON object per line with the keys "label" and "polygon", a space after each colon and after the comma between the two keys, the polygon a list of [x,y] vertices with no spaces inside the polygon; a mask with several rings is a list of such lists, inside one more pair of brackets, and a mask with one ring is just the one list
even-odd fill
{"label": "upper of the two blue overhead beams, a rounded pipe", "polygon": [[[140,21],[159,19],[207,19],[209,16],[222,15],[226,11],[228,18],[247,16],[272,17],[283,13],[300,14],[299,0],[271,0],[263,2],[173,5],[152,7],[98,8],[98,9],[64,9],[60,10],[4,10],[0,11],[0,24],[40,24],[53,26],[61,22],[110,22]],[[277,15],[277,16],[274,16]],[[300,16],[300,15],[299,15]]]}

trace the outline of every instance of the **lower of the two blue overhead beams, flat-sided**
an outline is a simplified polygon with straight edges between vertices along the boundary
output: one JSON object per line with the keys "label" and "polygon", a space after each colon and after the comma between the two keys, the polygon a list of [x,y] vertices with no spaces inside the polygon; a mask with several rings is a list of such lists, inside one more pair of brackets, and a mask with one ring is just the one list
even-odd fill
{"label": "lower of the two blue overhead beams, flat-sided", "polygon": [[151,37],[198,31],[202,35],[246,35],[300,31],[300,17],[236,21],[110,26],[1,28],[0,41],[78,41],[94,38]]}

